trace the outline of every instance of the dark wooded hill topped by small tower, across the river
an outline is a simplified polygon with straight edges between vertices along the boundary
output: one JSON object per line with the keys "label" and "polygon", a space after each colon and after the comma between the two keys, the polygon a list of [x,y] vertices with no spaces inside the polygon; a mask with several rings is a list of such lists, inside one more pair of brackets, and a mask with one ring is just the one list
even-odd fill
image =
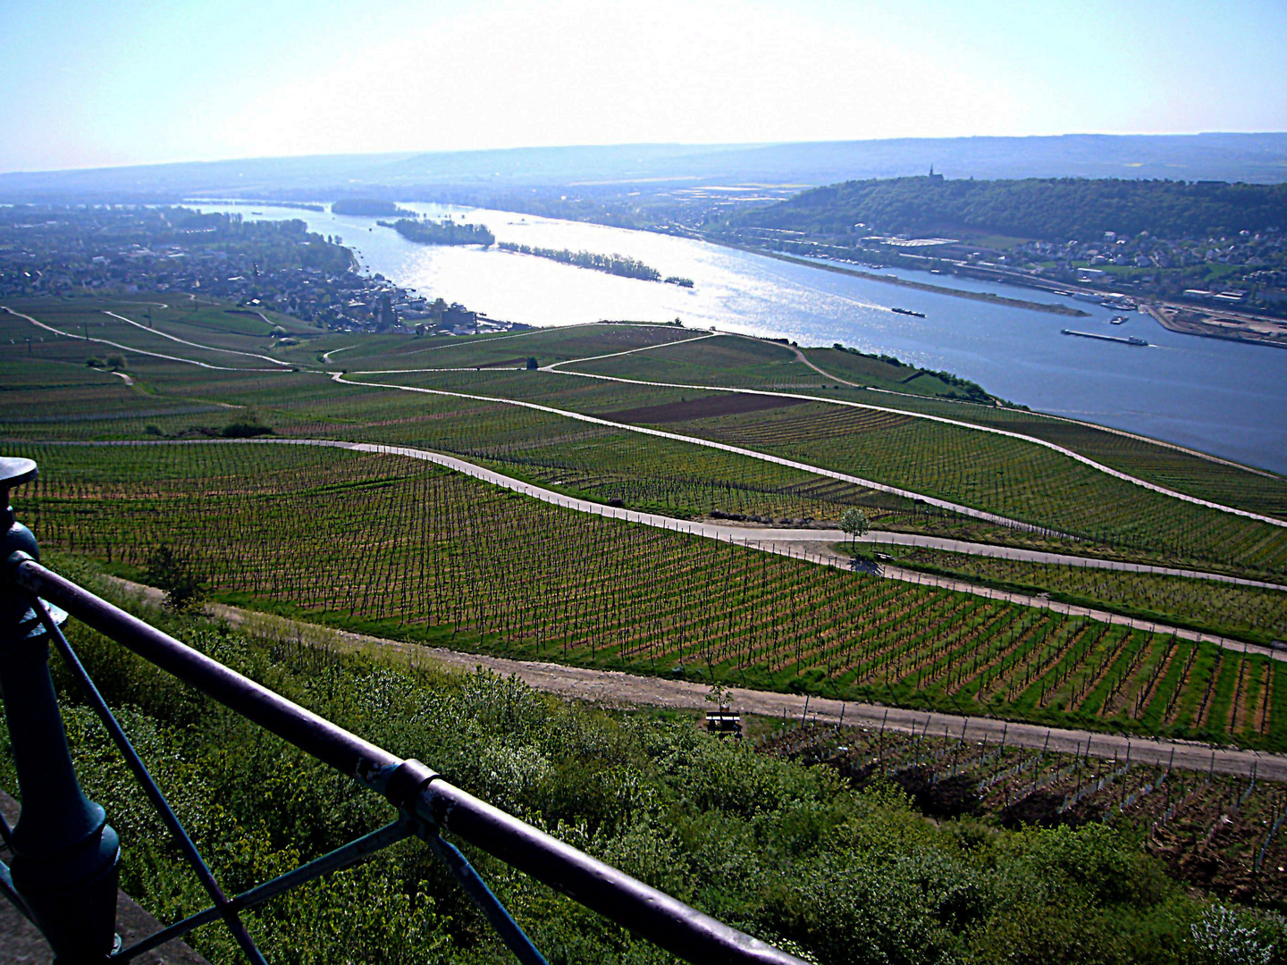
{"label": "dark wooded hill topped by small tower, across the river", "polygon": [[1058,242],[1104,232],[1205,238],[1287,228],[1287,184],[892,178],[815,188],[731,224],[810,234],[846,234],[862,224],[874,233],[987,232]]}

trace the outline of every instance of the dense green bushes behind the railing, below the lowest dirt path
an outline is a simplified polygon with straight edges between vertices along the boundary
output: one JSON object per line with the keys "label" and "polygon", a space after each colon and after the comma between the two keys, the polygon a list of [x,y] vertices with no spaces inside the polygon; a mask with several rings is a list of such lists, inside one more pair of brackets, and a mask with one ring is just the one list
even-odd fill
{"label": "dense green bushes behind the railing, below the lowest dirt path", "polygon": [[[1162,962],[1197,960],[1205,947],[1201,902],[1107,826],[934,825],[889,785],[853,791],[834,771],[757,755],[683,718],[607,714],[485,672],[444,676],[187,616],[162,623],[360,736],[822,965]],[[251,887],[389,820],[376,795],[344,776],[85,628],[72,633],[225,889]],[[163,920],[202,907],[199,885],[106,736],[67,701],[64,692],[86,791],[122,835],[125,888]],[[0,780],[12,787],[8,762],[0,753]],[[470,857],[551,961],[673,961],[505,865]],[[1238,917],[1256,929],[1257,948],[1282,948],[1275,919]],[[270,959],[291,965],[507,960],[414,841],[274,899],[248,921]],[[218,965],[237,960],[219,928],[194,942]]]}

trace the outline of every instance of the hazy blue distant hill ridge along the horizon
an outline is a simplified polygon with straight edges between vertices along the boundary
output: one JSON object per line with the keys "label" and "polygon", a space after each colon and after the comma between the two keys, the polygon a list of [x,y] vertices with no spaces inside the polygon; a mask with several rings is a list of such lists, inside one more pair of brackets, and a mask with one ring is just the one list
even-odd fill
{"label": "hazy blue distant hill ridge along the horizon", "polygon": [[[771,183],[898,178],[931,166],[961,178],[1287,181],[1287,134],[900,138],[794,144],[616,144],[505,151],[250,158],[0,174],[0,201],[277,197],[434,199],[447,187]],[[354,188],[360,184],[360,189]],[[426,197],[418,197],[418,196]]]}

